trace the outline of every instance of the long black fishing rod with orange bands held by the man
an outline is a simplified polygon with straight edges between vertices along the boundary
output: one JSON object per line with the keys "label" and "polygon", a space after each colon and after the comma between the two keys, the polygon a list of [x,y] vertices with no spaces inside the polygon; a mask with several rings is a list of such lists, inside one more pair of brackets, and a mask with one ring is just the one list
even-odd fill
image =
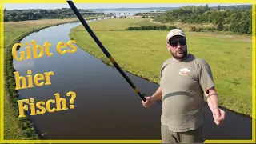
{"label": "long black fishing rod with orange bands held by the man", "polygon": [[66,0],[68,4],[70,5],[71,9],[74,11],[74,14],[78,17],[80,22],[82,22],[82,25],[86,28],[88,33],[92,38],[94,38],[94,41],[98,44],[98,46],[102,49],[103,53],[106,54],[106,57],[110,59],[110,62],[113,63],[114,67],[119,71],[120,74],[122,74],[123,78],[126,79],[126,81],[130,84],[130,86],[134,89],[134,91],[142,98],[144,102],[146,102],[145,94],[142,94],[138,88],[134,85],[133,82],[131,82],[130,78],[127,77],[127,75],[123,72],[123,70],[118,66],[118,63],[114,61],[114,58],[110,55],[110,53],[106,50],[106,48],[102,45],[102,42],[100,42],[97,38],[97,36],[94,34],[93,30],[90,29],[90,26],[87,24],[86,20],[82,18],[82,15],[79,13],[76,6],[74,6],[74,3],[72,0]]}

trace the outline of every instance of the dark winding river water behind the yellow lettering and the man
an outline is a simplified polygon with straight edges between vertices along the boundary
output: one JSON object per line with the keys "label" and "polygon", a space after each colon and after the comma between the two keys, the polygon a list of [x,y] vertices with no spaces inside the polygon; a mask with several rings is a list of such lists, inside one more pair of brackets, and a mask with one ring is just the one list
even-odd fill
{"label": "dark winding river water behind the yellow lettering and the man", "polygon": [[[58,54],[58,42],[70,40],[70,29],[80,22],[51,26],[30,34],[21,43],[36,40],[38,45],[45,41],[52,44],[53,56],[32,58],[24,61],[14,60],[14,69],[21,76],[26,70],[32,75],[53,71],[49,86],[35,86],[18,90],[19,98],[34,98],[34,102],[54,99],[54,94],[66,98],[69,108],[69,91],[76,93],[74,109],[47,112],[30,116],[31,122],[42,139],[161,139],[161,106],[149,109],[142,106],[141,99],[126,82],[118,70],[106,66],[98,58],[78,49],[73,54]],[[86,39],[85,39],[86,41]],[[23,51],[21,48],[17,51]],[[142,93],[154,94],[158,84],[126,73]],[[55,104],[51,105],[52,108]],[[206,106],[206,122],[203,127],[206,139],[251,139],[251,118],[226,110],[226,121],[222,126],[214,124],[212,114]]]}

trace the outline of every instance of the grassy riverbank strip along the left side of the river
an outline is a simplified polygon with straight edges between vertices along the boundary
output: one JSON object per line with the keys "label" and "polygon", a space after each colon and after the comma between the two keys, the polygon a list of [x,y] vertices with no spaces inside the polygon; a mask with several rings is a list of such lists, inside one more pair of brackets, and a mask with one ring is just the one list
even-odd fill
{"label": "grassy riverbank strip along the left side of the river", "polygon": [[18,118],[18,94],[15,89],[13,78],[13,59],[11,55],[12,46],[26,35],[66,22],[75,22],[78,19],[45,19],[23,22],[4,23],[4,48],[5,48],[5,95],[4,95],[4,139],[38,139],[33,124],[28,118]]}

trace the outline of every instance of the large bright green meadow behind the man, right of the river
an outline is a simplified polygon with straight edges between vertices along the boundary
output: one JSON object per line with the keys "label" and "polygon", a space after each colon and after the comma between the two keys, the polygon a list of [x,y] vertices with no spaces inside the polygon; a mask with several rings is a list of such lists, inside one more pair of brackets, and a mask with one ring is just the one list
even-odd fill
{"label": "large bright green meadow behind the man, right of the river", "polygon": [[[125,30],[128,26],[159,25],[144,18],[106,19],[89,25],[123,70],[150,82],[159,82],[162,62],[170,58],[166,50],[168,31]],[[205,58],[211,66],[220,106],[251,116],[251,38],[189,31],[186,37],[189,53]],[[70,38],[83,50],[111,65],[83,26],[74,28]]]}

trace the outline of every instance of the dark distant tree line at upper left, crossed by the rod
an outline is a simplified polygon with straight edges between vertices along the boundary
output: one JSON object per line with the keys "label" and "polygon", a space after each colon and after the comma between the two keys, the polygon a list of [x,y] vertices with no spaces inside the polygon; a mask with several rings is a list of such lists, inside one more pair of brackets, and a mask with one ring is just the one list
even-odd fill
{"label": "dark distant tree line at upper left, crossed by the rod", "polygon": [[[89,10],[81,10],[80,12],[91,12]],[[102,15],[104,13],[87,13],[86,16]],[[85,16],[85,14],[83,14]],[[55,10],[29,9],[29,10],[4,10],[4,22],[50,19],[50,18],[75,18],[73,10],[70,8],[62,8]]]}

